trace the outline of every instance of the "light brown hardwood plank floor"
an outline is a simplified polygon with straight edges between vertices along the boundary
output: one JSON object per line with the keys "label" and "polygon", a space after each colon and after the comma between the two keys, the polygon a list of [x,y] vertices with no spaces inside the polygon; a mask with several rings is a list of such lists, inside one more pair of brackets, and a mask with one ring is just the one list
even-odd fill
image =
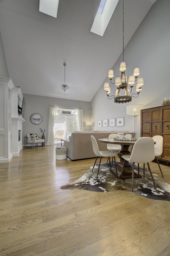
{"label": "light brown hardwood plank floor", "polygon": [[[170,201],[60,189],[94,160],[56,160],[46,146],[0,164],[0,256],[170,255]],[[150,166],[162,177],[158,164]],[[170,184],[170,167],[161,167]]]}

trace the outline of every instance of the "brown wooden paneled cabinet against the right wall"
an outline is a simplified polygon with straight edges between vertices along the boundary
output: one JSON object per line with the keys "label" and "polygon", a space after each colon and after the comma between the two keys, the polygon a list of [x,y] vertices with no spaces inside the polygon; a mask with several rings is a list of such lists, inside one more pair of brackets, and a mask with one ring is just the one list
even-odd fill
{"label": "brown wooden paneled cabinet against the right wall", "polygon": [[141,110],[141,137],[163,136],[159,160],[170,163],[170,105]]}

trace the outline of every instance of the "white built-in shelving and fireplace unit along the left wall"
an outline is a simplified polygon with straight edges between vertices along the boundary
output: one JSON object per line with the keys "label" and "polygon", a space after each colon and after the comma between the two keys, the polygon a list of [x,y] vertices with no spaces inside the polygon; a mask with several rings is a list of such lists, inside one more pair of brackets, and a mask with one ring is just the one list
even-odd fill
{"label": "white built-in shelving and fireplace unit along the left wall", "polygon": [[15,87],[10,78],[0,77],[0,163],[10,162],[22,149],[22,123],[25,120],[18,114],[22,100],[21,89]]}

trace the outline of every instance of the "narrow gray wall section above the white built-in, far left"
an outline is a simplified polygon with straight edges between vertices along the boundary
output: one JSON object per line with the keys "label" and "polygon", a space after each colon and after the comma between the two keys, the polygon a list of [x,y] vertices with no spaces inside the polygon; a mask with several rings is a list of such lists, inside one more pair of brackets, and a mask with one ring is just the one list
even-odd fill
{"label": "narrow gray wall section above the white built-in, far left", "polygon": [[5,53],[3,49],[3,43],[2,43],[2,38],[1,38],[1,32],[0,32],[0,77],[8,77],[8,68],[6,64],[6,58],[5,58]]}

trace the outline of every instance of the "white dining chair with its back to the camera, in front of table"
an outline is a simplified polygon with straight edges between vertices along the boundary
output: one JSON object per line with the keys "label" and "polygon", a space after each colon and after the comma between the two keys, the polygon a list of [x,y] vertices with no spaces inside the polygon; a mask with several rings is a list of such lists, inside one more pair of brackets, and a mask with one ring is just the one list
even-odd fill
{"label": "white dining chair with its back to the camera, in front of table", "polygon": [[[135,163],[138,163],[138,176],[139,176],[139,163],[143,163],[143,164],[147,163],[148,169],[152,177],[152,181],[154,183],[154,187],[156,189],[155,181],[149,165],[149,162],[155,159],[155,148],[154,148],[153,138],[151,137],[139,138],[133,146],[131,155],[122,155],[122,158],[124,159],[124,163],[122,167],[121,179],[124,171],[125,161],[130,161],[133,163],[132,164],[132,191],[133,191],[133,183],[134,183],[134,164]],[[145,178],[145,168],[143,168],[143,177]]]}

